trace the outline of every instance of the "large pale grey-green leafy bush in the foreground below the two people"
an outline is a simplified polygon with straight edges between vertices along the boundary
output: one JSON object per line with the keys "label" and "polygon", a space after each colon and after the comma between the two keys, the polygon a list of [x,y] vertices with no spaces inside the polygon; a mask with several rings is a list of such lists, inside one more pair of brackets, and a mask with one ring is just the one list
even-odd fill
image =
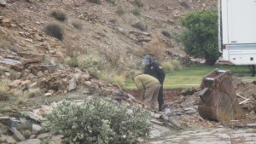
{"label": "large pale grey-green leafy bush in the foreground below the two people", "polygon": [[127,109],[113,101],[62,101],[46,116],[44,127],[65,135],[69,143],[137,143],[148,137],[151,123],[142,109]]}

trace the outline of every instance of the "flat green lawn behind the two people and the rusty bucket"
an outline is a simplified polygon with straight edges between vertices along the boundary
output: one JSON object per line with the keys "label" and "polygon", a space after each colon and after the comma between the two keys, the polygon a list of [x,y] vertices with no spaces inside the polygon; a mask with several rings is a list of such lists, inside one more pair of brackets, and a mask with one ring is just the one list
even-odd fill
{"label": "flat green lawn behind the two people and the rusty bucket", "polygon": [[[202,78],[216,68],[219,70],[231,70],[233,77],[240,77],[245,82],[252,82],[256,79],[255,77],[251,77],[248,66],[191,65],[184,67],[182,70],[167,72],[164,89],[199,88]],[[136,86],[131,79],[126,79],[125,88],[136,89]]]}

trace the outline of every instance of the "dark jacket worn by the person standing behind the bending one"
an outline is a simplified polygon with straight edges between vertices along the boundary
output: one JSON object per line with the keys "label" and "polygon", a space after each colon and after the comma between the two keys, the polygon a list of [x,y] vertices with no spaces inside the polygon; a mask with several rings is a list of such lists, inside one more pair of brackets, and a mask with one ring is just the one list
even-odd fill
{"label": "dark jacket worn by the person standing behind the bending one", "polygon": [[153,61],[150,65],[145,66],[144,73],[157,78],[160,81],[160,84],[163,84],[166,78],[166,72],[164,72],[162,66],[160,66],[160,64],[156,61]]}

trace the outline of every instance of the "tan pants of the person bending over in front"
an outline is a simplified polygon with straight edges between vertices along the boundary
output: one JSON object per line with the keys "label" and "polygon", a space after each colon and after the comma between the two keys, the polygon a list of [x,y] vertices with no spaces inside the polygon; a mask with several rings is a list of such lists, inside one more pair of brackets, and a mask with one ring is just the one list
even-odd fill
{"label": "tan pants of the person bending over in front", "polygon": [[157,96],[158,96],[160,86],[161,86],[161,84],[154,84],[145,90],[145,94],[143,97],[144,104],[147,107],[151,107],[152,110],[155,110]]}

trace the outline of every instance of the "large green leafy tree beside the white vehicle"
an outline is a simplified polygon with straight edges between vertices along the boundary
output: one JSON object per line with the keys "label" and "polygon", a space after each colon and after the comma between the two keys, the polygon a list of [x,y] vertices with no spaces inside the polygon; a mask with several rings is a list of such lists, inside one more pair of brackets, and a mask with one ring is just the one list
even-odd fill
{"label": "large green leafy tree beside the white vehicle", "polygon": [[214,65],[219,57],[217,10],[195,10],[183,15],[180,22],[185,27],[181,34],[185,52]]}

